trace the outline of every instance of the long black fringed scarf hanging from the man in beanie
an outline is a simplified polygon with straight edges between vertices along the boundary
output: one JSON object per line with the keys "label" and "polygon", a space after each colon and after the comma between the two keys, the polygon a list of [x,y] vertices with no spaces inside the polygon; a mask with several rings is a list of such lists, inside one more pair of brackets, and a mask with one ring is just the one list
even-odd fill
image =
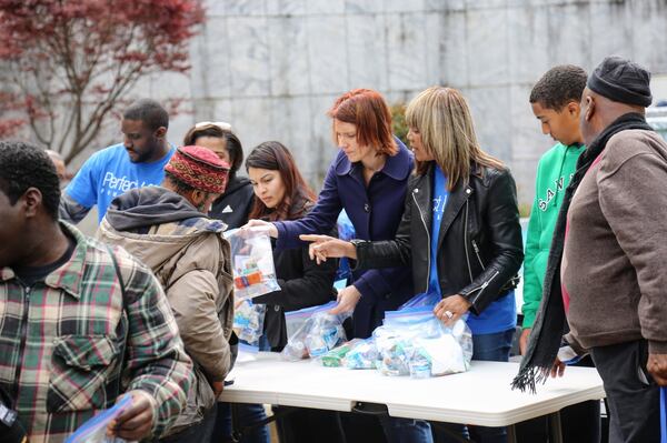
{"label": "long black fringed scarf hanging from the man in beanie", "polygon": [[569,209],[573,195],[577,190],[586,172],[605,150],[611,135],[628,129],[651,130],[646,123],[646,119],[639,113],[627,113],[619,117],[608,125],[589,147],[581,153],[577,161],[577,171],[573,177],[570,184],[565,190],[563,205],[558,213],[547,271],[545,273],[545,284],[542,286],[542,300],[539,305],[539,312],[535,319],[526,355],[521,359],[519,373],[511,382],[512,389],[519,389],[535,393],[537,383],[544,383],[549,376],[549,372],[560,348],[563,334],[567,331],[565,318],[565,308],[563,304],[563,294],[560,291],[560,261],[563,259],[563,248],[565,245],[565,225],[567,222],[567,211]]}

